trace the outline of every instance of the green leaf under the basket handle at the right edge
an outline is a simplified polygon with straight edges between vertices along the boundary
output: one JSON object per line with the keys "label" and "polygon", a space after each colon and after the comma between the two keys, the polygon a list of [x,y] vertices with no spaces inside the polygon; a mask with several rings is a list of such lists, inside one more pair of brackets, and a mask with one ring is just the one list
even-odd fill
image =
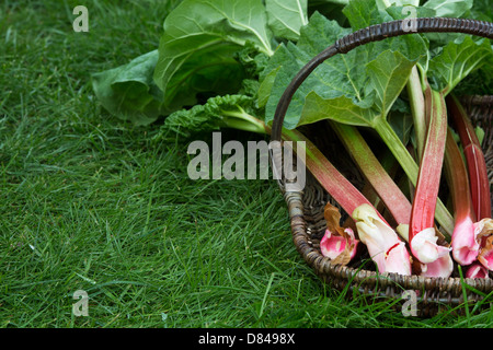
{"label": "green leaf under the basket handle at the right edge", "polygon": [[428,62],[427,75],[432,88],[447,95],[462,79],[493,58],[488,39],[474,42],[465,36],[460,43],[447,44]]}

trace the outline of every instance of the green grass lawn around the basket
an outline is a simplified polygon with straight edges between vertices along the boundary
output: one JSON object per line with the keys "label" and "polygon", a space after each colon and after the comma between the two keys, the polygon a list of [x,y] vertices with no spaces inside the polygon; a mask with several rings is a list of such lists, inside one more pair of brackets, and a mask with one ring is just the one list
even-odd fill
{"label": "green grass lawn around the basket", "polygon": [[154,49],[172,3],[87,1],[89,33],[77,4],[0,4],[1,327],[492,327],[489,311],[404,317],[323,284],[275,182],[191,180],[185,143],[95,101],[90,74]]}

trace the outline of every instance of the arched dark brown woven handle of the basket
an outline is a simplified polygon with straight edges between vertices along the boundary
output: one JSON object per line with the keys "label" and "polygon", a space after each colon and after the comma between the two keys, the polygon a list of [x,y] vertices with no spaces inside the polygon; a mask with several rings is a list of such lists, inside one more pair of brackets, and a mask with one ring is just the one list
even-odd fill
{"label": "arched dark brown woven handle of the basket", "polygon": [[[414,27],[410,30],[406,25],[413,21]],[[271,140],[280,142],[284,117],[291,102],[293,95],[310,73],[324,60],[336,54],[347,54],[357,46],[379,42],[387,37],[400,36],[416,33],[463,33],[475,36],[482,36],[493,39],[493,23],[467,19],[447,19],[447,18],[421,18],[411,20],[398,20],[376,24],[351,33],[334,45],[328,47],[322,52],[313,57],[291,80],[284,91],[274,114],[272,124]]]}

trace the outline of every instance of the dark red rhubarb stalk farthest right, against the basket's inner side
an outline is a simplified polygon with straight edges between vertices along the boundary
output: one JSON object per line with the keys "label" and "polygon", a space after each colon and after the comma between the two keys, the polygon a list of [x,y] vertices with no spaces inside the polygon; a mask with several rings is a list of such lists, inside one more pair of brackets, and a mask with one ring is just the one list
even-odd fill
{"label": "dark red rhubarb stalk farthest right, against the basket's inner side", "polygon": [[490,182],[481,144],[469,116],[457,97],[448,95],[446,101],[463,147],[474,213],[478,220],[491,218]]}

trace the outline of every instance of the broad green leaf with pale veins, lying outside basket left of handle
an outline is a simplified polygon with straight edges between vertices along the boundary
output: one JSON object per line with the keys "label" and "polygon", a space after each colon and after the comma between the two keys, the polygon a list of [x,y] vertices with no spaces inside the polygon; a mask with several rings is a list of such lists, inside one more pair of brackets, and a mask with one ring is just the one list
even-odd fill
{"label": "broad green leaf with pale veins, lying outside basket left of handle", "polygon": [[241,81],[243,68],[234,52],[250,42],[271,55],[271,40],[261,0],[184,0],[165,19],[159,45],[154,81],[164,103],[171,104],[180,92],[193,98],[191,83],[215,93],[219,86],[225,93],[228,82]]}

